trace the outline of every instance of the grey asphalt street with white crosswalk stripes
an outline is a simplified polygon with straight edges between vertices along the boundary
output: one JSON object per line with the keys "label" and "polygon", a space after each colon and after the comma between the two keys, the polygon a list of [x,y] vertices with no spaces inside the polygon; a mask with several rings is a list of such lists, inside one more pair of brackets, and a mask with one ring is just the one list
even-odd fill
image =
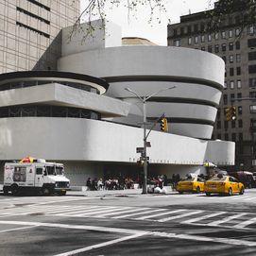
{"label": "grey asphalt street with white crosswalk stripes", "polygon": [[256,190],[0,196],[1,255],[255,255]]}

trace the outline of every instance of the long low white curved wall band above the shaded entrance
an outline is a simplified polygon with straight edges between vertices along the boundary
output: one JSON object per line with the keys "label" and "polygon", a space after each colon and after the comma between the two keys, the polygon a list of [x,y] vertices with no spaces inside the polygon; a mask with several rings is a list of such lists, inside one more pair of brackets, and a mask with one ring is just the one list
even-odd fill
{"label": "long low white curved wall band above the shaded entrance", "polygon": [[[234,143],[213,143],[159,131],[152,131],[148,140],[152,145],[147,149],[151,163],[198,166],[205,160],[220,165],[234,162]],[[168,146],[163,150],[162,145]],[[0,161],[22,159],[26,152],[62,162],[134,163],[140,158],[138,146],[143,146],[141,128],[77,118],[0,119]],[[217,156],[213,152],[218,152]]]}

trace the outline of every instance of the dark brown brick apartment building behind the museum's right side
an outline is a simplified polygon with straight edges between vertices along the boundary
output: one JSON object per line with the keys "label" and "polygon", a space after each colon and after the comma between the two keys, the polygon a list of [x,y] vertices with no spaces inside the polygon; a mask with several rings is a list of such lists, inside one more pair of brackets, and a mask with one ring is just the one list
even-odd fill
{"label": "dark brown brick apartment building behind the museum's right side", "polygon": [[[168,45],[207,51],[225,61],[225,89],[212,139],[236,143],[231,169],[255,171],[256,101],[247,98],[256,98],[256,30],[255,25],[247,26],[241,34],[239,18],[239,13],[233,13],[219,31],[206,33],[205,12],[181,16],[180,23],[168,26]],[[236,107],[236,120],[228,122],[225,110],[231,102]]]}

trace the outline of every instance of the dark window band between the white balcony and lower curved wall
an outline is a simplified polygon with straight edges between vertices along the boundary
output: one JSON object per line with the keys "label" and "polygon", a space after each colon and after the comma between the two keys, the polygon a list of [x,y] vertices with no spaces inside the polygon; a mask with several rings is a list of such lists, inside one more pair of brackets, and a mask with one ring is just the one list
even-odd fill
{"label": "dark window band between the white balcony and lower curved wall", "polygon": [[26,116],[100,119],[100,114],[95,111],[70,107],[23,105],[0,108],[0,118]]}

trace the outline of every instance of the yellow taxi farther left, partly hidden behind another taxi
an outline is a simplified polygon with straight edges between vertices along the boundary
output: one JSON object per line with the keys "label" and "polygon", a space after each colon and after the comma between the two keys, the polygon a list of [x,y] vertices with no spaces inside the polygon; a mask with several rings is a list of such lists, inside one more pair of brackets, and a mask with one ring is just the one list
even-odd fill
{"label": "yellow taxi farther left, partly hidden behind another taxi", "polygon": [[188,175],[185,179],[181,179],[178,182],[176,190],[179,194],[182,194],[183,192],[204,192],[204,179],[198,176]]}

